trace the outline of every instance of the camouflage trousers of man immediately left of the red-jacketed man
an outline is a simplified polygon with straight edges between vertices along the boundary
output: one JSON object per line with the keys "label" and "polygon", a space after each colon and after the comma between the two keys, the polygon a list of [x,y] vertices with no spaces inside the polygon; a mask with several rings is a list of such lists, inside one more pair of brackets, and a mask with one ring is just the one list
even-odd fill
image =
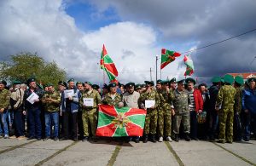
{"label": "camouflage trousers of man immediately left of the red-jacketed man", "polygon": [[179,134],[180,124],[183,124],[183,133],[190,133],[190,116],[189,112],[183,114],[175,114],[173,122],[173,133]]}

